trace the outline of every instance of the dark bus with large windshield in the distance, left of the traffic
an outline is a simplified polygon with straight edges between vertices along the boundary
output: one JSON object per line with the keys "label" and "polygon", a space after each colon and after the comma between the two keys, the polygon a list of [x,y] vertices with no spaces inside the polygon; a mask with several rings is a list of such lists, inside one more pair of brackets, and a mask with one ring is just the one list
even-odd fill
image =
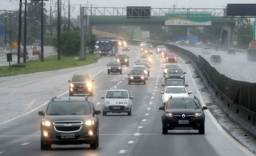
{"label": "dark bus with large windshield in the distance, left of the traffic", "polygon": [[100,40],[99,54],[100,56],[110,55],[116,56],[118,53],[118,40]]}

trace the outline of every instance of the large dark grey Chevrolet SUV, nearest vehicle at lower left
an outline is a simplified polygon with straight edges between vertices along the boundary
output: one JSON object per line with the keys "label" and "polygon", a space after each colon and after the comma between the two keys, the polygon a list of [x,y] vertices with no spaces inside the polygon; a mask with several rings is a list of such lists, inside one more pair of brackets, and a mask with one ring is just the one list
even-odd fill
{"label": "large dark grey Chevrolet SUV, nearest vehicle at lower left", "polygon": [[41,150],[55,145],[90,144],[99,146],[99,120],[90,99],[84,97],[54,97],[45,111],[39,111],[41,120]]}

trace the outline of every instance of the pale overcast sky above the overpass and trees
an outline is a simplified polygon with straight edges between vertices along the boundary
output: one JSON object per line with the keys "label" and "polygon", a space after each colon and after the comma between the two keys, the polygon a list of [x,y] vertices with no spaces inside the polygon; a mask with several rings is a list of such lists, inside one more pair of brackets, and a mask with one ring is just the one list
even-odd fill
{"label": "pale overcast sky above the overpass and trees", "polygon": [[[24,0],[22,0],[24,2]],[[50,10],[50,5],[55,9],[57,0],[44,1],[46,9]],[[30,0],[27,0],[30,3]],[[67,12],[67,0],[62,0]],[[151,8],[224,8],[227,3],[256,3],[256,0],[88,0],[88,4],[95,4],[99,7],[126,7],[126,6],[151,6]],[[0,10],[19,9],[19,0],[0,0]],[[86,4],[87,0],[70,0],[70,4]],[[24,8],[23,8],[24,9]],[[49,13],[49,12],[48,12]],[[71,9],[71,16],[76,18],[79,14],[79,6]],[[64,11],[62,11],[64,16]],[[65,14],[67,16],[67,13]]]}

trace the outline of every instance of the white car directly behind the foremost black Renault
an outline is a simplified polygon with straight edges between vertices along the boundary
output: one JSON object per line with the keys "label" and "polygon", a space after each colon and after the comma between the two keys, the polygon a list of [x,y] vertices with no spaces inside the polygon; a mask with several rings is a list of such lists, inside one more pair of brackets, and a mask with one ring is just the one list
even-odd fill
{"label": "white car directly behind the foremost black Renault", "polygon": [[162,96],[162,105],[165,106],[166,101],[170,97],[189,97],[191,91],[187,91],[185,86],[167,86],[164,91],[160,92]]}

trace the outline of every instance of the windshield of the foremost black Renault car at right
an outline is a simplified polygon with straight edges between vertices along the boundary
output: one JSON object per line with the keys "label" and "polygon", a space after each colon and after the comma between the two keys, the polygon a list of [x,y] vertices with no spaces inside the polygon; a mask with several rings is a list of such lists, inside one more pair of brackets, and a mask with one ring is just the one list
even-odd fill
{"label": "windshield of the foremost black Renault car at right", "polygon": [[194,99],[170,99],[166,108],[200,109],[200,104]]}

